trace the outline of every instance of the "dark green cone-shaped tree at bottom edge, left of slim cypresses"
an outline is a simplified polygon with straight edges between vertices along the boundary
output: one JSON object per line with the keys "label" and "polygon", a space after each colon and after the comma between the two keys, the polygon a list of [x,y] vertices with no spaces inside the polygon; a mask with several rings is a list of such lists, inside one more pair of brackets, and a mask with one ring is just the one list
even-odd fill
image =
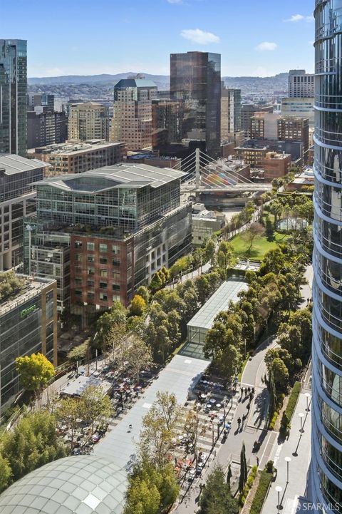
{"label": "dark green cone-shaped tree at bottom edge, left of slim cypresses", "polygon": [[224,471],[217,467],[209,474],[199,498],[197,514],[238,514],[239,504],[232,498]]}

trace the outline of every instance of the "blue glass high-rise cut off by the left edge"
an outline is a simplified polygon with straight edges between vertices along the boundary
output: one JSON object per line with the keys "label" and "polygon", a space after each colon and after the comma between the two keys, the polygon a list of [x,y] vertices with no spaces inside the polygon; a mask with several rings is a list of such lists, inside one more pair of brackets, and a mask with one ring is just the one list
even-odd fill
{"label": "blue glass high-rise cut off by the left edge", "polygon": [[0,153],[26,155],[26,90],[26,41],[0,39]]}

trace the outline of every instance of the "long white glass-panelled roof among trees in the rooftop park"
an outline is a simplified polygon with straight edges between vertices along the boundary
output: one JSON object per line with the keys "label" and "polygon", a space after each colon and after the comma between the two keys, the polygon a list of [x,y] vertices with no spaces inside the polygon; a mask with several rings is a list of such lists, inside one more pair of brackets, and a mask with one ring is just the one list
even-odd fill
{"label": "long white glass-panelled roof among trees in the rooftop park", "polygon": [[242,280],[227,280],[209,298],[201,309],[190,319],[187,327],[200,327],[211,329],[215,317],[219,312],[227,310],[229,302],[237,302],[238,294],[248,289],[247,282]]}

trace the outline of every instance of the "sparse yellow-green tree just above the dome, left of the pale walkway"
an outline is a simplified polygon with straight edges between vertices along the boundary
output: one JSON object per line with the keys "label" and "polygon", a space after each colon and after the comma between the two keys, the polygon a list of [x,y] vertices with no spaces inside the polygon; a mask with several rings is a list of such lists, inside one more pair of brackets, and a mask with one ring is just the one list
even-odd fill
{"label": "sparse yellow-green tree just above the dome, left of the pale walkway", "polygon": [[97,421],[108,418],[113,413],[113,407],[109,397],[103,393],[101,386],[88,386],[81,394],[82,418],[94,426]]}

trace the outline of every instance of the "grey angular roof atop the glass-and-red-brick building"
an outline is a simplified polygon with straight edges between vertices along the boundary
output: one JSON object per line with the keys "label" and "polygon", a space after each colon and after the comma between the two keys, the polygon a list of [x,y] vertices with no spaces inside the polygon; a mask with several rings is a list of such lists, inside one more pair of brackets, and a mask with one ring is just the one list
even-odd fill
{"label": "grey angular roof atop the glass-and-red-brick building", "polygon": [[64,191],[99,192],[113,187],[160,187],[185,175],[175,168],[147,164],[118,163],[84,173],[46,178],[36,185],[51,185]]}

